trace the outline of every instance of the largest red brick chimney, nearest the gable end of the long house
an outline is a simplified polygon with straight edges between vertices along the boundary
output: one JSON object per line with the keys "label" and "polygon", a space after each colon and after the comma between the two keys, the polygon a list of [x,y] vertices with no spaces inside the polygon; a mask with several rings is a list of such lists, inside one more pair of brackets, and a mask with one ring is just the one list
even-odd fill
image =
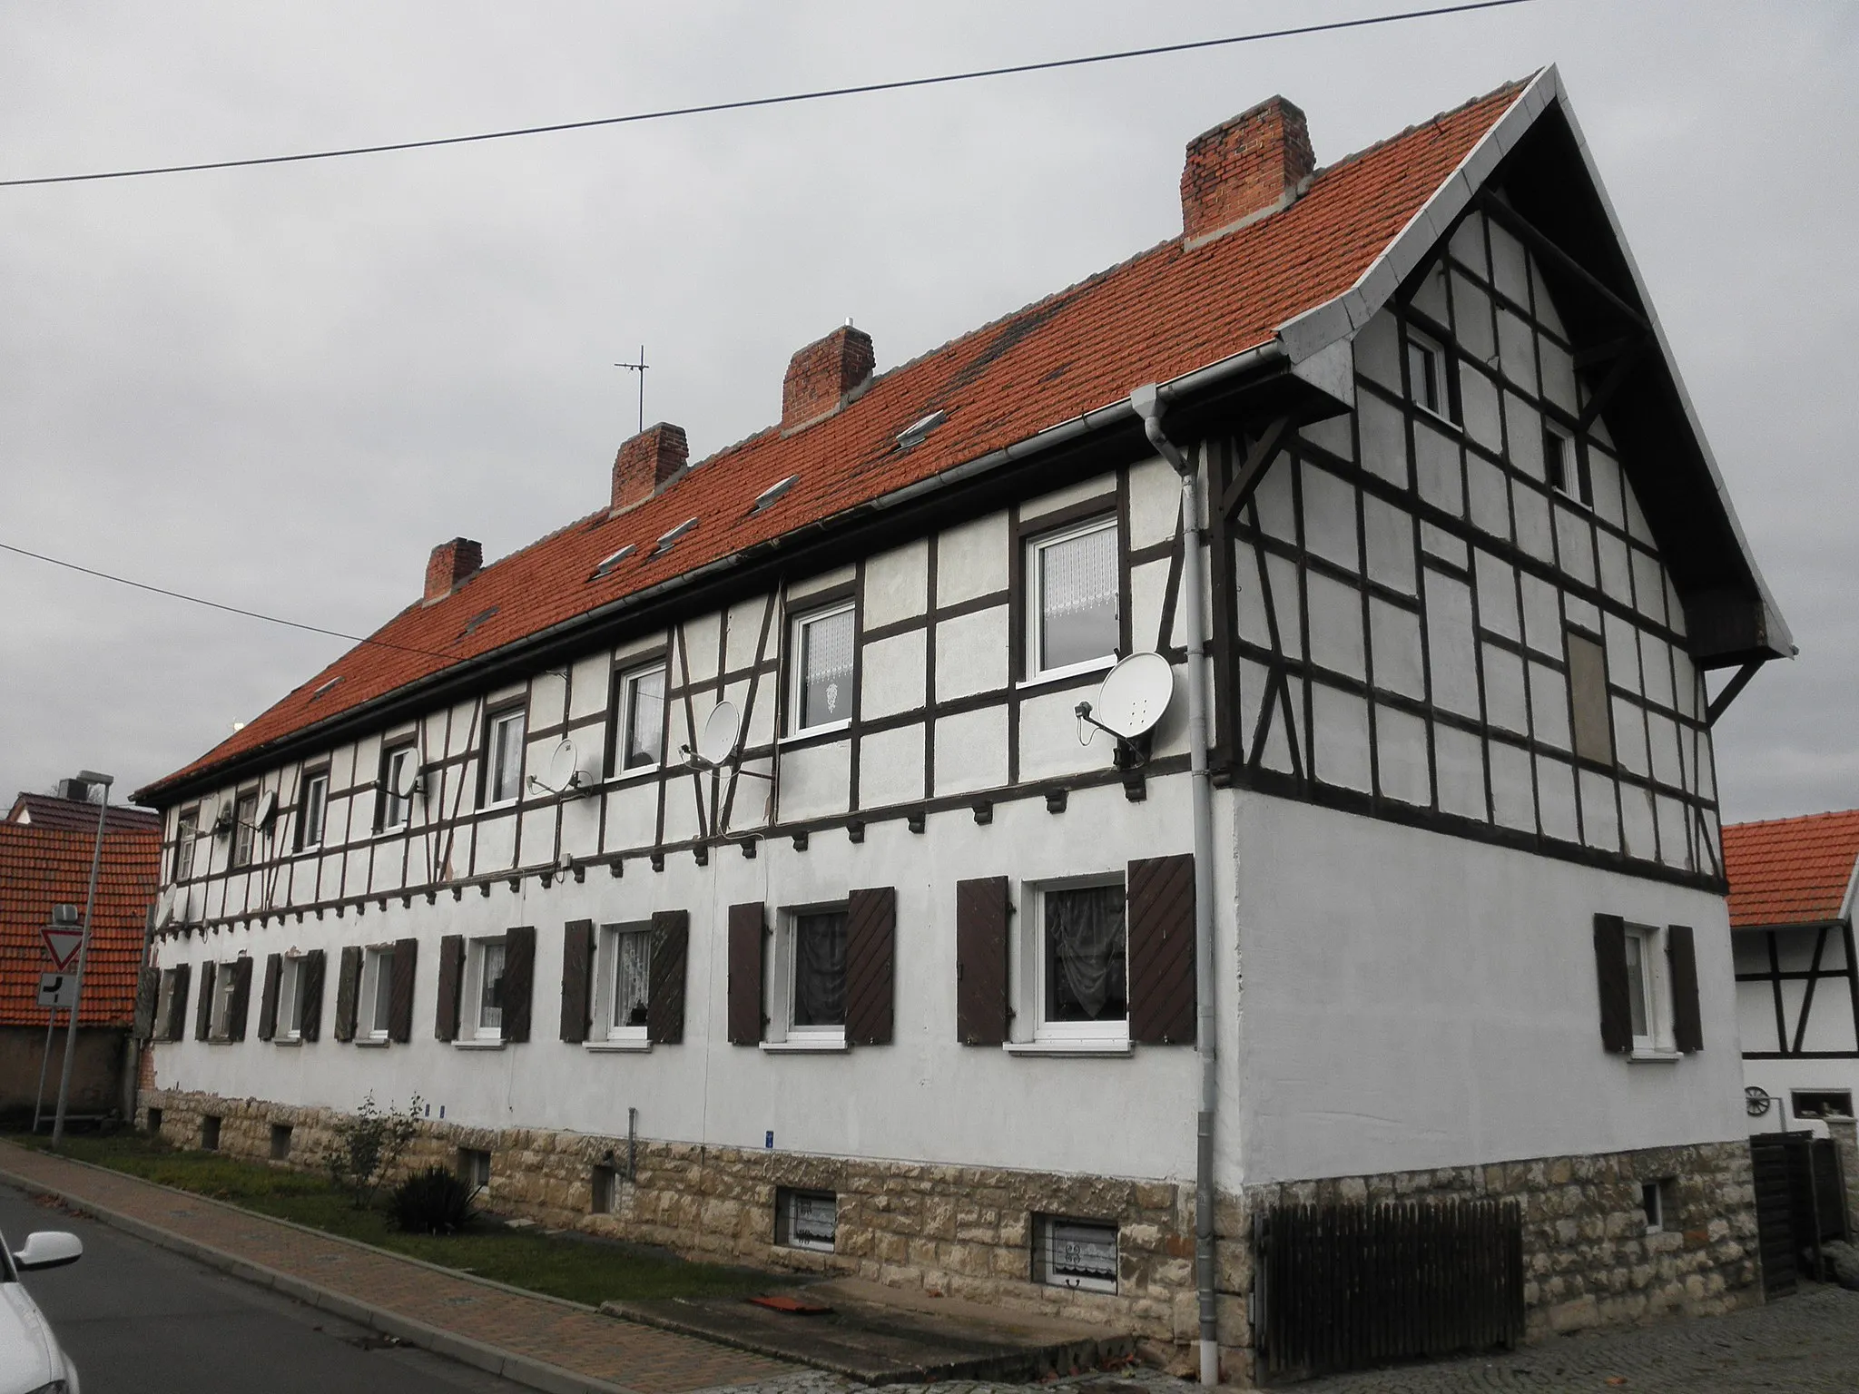
{"label": "largest red brick chimney, nearest the gable end of the long house", "polygon": [[1273,97],[1188,141],[1180,225],[1190,245],[1288,208],[1316,169],[1303,112]]}

